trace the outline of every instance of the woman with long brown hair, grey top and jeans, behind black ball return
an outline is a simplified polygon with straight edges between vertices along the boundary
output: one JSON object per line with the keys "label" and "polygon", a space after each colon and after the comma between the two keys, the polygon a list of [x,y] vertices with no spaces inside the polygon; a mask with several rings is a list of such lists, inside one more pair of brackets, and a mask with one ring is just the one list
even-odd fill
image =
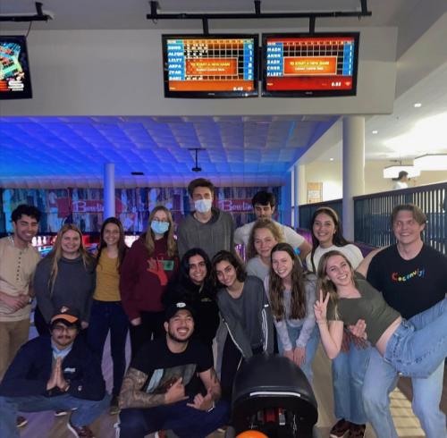
{"label": "woman with long brown hair, grey top and jeans, behind black ball return", "polygon": [[270,274],[264,285],[278,333],[278,350],[295,362],[312,383],[312,362],[318,347],[314,316],[316,276],[304,274],[288,243],[275,245],[270,257]]}

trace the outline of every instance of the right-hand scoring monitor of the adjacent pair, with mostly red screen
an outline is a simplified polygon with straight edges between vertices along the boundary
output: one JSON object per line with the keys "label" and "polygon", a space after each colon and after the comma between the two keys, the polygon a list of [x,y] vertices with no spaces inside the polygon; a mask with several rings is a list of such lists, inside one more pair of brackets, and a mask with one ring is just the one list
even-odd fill
{"label": "right-hand scoring monitor of the adjacent pair, with mostly red screen", "polygon": [[358,32],[263,34],[262,96],[355,96],[358,41]]}

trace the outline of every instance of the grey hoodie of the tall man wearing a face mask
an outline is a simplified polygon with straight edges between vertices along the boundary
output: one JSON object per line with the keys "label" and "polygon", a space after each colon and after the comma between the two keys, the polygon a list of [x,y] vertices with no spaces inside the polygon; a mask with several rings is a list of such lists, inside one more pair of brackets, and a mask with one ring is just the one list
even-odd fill
{"label": "grey hoodie of the tall man wearing a face mask", "polygon": [[190,248],[202,248],[209,258],[213,258],[222,249],[233,251],[234,223],[232,215],[218,208],[212,208],[213,216],[207,223],[201,223],[194,212],[187,215],[177,230],[179,255]]}

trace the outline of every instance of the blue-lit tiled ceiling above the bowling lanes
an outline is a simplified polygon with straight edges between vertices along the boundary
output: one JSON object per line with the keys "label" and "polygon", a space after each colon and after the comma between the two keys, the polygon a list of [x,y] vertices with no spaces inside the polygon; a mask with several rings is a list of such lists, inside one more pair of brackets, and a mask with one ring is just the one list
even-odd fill
{"label": "blue-lit tiled ceiling above the bowling lanes", "polygon": [[[117,187],[279,185],[335,122],[318,116],[0,117],[1,187],[101,187],[115,164]],[[203,172],[192,173],[193,147]],[[132,176],[131,172],[143,172]]]}

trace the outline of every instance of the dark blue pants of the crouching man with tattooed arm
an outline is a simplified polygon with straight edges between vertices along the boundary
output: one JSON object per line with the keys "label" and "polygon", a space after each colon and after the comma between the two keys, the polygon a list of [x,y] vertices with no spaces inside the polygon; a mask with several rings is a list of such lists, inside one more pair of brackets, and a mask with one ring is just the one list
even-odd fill
{"label": "dark blue pants of the crouching man with tattooed arm", "polygon": [[221,425],[226,425],[230,406],[220,400],[210,412],[190,408],[183,400],[172,405],[148,409],[122,409],[120,413],[120,438],[143,438],[158,430],[173,430],[180,438],[205,438]]}

